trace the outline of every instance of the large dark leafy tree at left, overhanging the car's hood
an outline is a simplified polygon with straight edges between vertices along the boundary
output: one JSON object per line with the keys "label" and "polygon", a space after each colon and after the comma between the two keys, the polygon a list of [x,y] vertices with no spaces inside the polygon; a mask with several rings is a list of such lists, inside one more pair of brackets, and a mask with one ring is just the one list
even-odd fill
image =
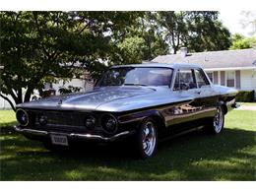
{"label": "large dark leafy tree at left, overhanging the car's hood", "polygon": [[46,82],[74,76],[80,63],[97,77],[119,58],[111,33],[132,25],[136,12],[1,12],[0,96],[13,109]]}

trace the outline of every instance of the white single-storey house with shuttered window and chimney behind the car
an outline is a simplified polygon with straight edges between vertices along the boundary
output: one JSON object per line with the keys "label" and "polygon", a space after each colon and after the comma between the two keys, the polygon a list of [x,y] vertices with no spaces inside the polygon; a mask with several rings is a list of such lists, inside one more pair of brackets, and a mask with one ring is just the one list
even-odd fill
{"label": "white single-storey house with shuttered window and chimney behind the car", "polygon": [[188,53],[182,47],[179,54],[160,55],[152,62],[200,64],[214,84],[256,92],[256,49],[253,48]]}

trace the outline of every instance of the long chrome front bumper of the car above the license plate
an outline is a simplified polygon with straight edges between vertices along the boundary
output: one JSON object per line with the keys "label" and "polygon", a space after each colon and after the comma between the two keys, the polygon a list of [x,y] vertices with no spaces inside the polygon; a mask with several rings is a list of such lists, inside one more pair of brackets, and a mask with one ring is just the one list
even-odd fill
{"label": "long chrome front bumper of the car above the license plate", "polygon": [[124,131],[118,133],[111,137],[103,137],[100,135],[92,135],[92,134],[77,134],[77,133],[60,133],[60,132],[48,132],[48,131],[39,131],[34,129],[22,129],[18,126],[14,126],[15,131],[22,133],[22,134],[30,134],[34,136],[49,136],[50,134],[57,134],[57,135],[65,135],[69,138],[78,138],[78,139],[85,139],[85,140],[96,140],[96,141],[103,141],[103,142],[111,142],[122,137],[129,136],[133,134],[132,131]]}

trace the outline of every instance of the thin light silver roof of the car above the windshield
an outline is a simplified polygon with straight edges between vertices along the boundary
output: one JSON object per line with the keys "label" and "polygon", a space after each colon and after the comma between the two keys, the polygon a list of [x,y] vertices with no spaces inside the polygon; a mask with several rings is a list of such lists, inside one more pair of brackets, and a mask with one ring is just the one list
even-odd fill
{"label": "thin light silver roof of the car above the windshield", "polygon": [[183,64],[183,63],[144,63],[144,64],[127,64],[127,65],[115,65],[111,68],[119,67],[164,67],[171,69],[179,68],[201,68],[198,64]]}

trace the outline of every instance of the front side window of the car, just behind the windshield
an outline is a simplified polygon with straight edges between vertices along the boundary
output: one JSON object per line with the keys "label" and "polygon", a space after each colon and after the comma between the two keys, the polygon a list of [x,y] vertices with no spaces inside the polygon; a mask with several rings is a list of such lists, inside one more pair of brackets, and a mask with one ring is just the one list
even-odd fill
{"label": "front side window of the car, just behind the windshield", "polygon": [[177,72],[175,82],[174,82],[174,91],[177,90],[189,90],[196,89],[196,81],[193,77],[192,70],[179,70]]}

